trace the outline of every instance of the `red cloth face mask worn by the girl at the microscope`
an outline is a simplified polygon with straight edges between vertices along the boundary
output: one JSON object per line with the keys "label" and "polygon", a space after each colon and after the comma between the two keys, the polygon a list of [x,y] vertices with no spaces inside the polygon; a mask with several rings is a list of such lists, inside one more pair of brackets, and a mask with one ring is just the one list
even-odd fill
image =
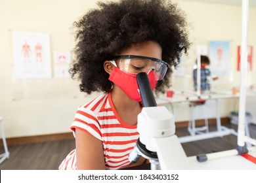
{"label": "red cloth face mask worn by the girl at the microscope", "polygon": [[[124,73],[123,71],[120,71],[118,67],[115,67],[108,79],[119,86],[119,88],[121,88],[121,90],[123,90],[128,97],[134,101],[142,102],[136,75],[137,74]],[[150,81],[152,90],[154,90],[156,83],[158,82],[154,76],[154,71],[151,71],[148,74],[148,79]]]}

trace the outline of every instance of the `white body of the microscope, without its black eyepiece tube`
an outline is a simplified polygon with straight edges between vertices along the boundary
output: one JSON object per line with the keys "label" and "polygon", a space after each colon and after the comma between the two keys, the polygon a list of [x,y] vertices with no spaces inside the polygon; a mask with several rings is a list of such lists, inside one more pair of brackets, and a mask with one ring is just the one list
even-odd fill
{"label": "white body of the microscope, without its black eyepiece tube", "polygon": [[[142,108],[138,115],[137,129],[140,142],[147,150],[156,152],[160,169],[190,169],[188,158],[175,135],[175,118],[167,108]],[[156,163],[156,159],[153,160],[150,163]]]}

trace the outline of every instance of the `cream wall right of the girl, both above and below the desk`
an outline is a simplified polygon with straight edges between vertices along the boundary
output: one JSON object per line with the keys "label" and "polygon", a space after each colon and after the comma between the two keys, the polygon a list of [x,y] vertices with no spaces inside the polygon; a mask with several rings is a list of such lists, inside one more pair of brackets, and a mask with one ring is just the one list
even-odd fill
{"label": "cream wall right of the girl, both above and below the desk", "polygon": [[[176,1],[179,7],[187,14],[187,20],[190,23],[190,39],[192,46],[188,51],[188,56],[184,56],[184,76],[174,76],[174,91],[192,91],[192,68],[196,60],[196,46],[207,45],[209,41],[230,41],[230,67],[229,74],[219,76],[219,79],[213,83],[213,90],[224,92],[232,88],[240,87],[240,72],[237,69],[237,46],[242,41],[242,6],[220,3],[205,3],[198,1]],[[255,45],[256,45],[256,7],[249,7],[248,17],[248,44],[253,46],[253,69],[247,72],[247,88],[255,86],[256,65],[255,65]],[[209,47],[208,47],[209,48]],[[238,99],[224,99],[219,101],[221,116],[228,116],[230,111],[238,110]],[[215,118],[216,106],[213,101],[208,101],[207,116]],[[166,105],[170,110],[171,107]],[[188,120],[190,110],[187,103],[173,105],[176,121]],[[200,109],[199,109],[200,110]],[[196,112],[196,118],[200,118],[200,112]],[[201,114],[202,116],[202,114]],[[201,117],[202,118],[202,117]]]}

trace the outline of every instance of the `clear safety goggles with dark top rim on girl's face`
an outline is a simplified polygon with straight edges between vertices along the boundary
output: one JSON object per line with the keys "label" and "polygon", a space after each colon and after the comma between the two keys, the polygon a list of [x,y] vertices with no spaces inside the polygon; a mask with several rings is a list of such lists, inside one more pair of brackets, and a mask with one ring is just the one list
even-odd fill
{"label": "clear safety goggles with dark top rim on girl's face", "polygon": [[[115,56],[110,61],[117,67],[116,63],[119,61],[119,69],[125,73],[138,74],[144,72],[149,74],[154,72],[156,80],[163,80],[169,64],[157,58],[150,58],[144,56]],[[116,62],[115,62],[116,61]]]}

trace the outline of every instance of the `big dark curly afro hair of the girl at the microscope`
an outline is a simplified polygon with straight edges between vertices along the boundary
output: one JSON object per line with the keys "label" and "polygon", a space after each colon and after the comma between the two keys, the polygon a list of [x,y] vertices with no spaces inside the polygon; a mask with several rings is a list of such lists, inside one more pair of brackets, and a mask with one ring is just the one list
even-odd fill
{"label": "big dark curly afro hair of the girl at the microscope", "polygon": [[[109,92],[112,82],[104,71],[104,61],[132,44],[156,41],[162,48],[162,59],[177,67],[182,52],[190,46],[184,13],[177,5],[161,0],[120,0],[98,2],[74,22],[77,41],[70,73],[81,80],[81,92]],[[170,86],[172,70],[158,81],[155,92]]]}

